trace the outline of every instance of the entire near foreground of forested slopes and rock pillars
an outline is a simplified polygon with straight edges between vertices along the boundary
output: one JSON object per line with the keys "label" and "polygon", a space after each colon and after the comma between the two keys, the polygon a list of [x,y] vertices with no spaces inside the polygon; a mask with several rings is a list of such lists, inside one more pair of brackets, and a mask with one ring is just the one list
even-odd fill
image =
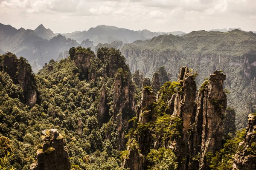
{"label": "entire near foreground of forested slopes and rock pillars", "polygon": [[187,67],[170,81],[164,67],[149,79],[125,62],[114,48],[72,47],[34,74],[25,58],[1,55],[0,169],[256,167],[256,114],[236,130],[222,71],[198,87]]}

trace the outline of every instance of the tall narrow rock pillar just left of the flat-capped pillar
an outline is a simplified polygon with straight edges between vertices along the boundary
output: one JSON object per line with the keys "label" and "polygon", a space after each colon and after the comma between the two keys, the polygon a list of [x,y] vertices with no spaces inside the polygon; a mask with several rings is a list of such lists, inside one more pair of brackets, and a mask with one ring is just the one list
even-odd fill
{"label": "tall narrow rock pillar just left of the flat-capped pillar", "polygon": [[194,122],[194,104],[196,97],[196,83],[193,75],[189,72],[189,68],[181,67],[178,77],[179,83],[182,85],[181,89],[178,89],[177,96],[174,102],[174,116],[178,116],[182,119],[183,130],[182,138],[179,139],[179,144],[176,148],[176,156],[180,162],[180,169],[188,169],[188,161],[183,161],[184,158],[189,156],[189,133],[188,130]]}

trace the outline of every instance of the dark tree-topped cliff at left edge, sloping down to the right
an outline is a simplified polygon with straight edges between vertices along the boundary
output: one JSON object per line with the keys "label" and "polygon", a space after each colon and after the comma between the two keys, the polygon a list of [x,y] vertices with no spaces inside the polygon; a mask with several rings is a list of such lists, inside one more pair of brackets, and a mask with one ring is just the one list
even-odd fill
{"label": "dark tree-topped cliff at left edge, sloping down to the right", "polygon": [[35,74],[32,72],[28,61],[23,57],[17,59],[12,53],[7,53],[3,57],[3,70],[11,77],[15,84],[19,84],[23,89],[24,102],[30,107],[34,106],[37,100],[37,90]]}

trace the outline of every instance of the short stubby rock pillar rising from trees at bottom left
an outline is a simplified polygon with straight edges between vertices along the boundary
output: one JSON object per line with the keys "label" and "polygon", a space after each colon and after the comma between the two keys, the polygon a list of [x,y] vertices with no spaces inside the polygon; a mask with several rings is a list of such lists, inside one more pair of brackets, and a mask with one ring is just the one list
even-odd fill
{"label": "short stubby rock pillar rising from trees at bottom left", "polygon": [[42,131],[43,148],[37,150],[37,162],[30,170],[70,170],[69,154],[63,136],[57,129]]}

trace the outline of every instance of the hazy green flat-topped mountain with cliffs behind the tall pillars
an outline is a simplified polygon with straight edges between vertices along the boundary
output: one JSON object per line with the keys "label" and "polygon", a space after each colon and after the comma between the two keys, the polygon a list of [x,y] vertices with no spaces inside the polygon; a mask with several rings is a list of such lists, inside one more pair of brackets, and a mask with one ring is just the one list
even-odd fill
{"label": "hazy green flat-topped mountain with cliffs behind the tall pillars", "polygon": [[145,77],[151,77],[163,65],[175,80],[180,66],[187,65],[198,71],[200,85],[212,71],[224,71],[224,88],[230,91],[228,106],[236,109],[236,125],[241,128],[246,126],[247,115],[255,110],[255,49],[256,34],[233,30],[192,31],[182,37],[162,35],[125,44],[121,51],[131,72],[141,70]]}

